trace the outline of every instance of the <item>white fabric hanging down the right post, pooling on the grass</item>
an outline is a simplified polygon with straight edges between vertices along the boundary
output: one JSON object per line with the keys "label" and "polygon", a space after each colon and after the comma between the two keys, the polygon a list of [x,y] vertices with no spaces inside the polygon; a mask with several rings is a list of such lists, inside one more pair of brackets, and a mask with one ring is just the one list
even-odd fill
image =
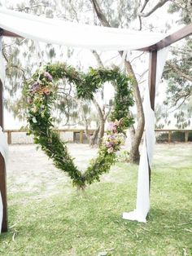
{"label": "white fabric hanging down the right post, pooling on the grass", "polygon": [[[166,47],[157,52],[157,68],[155,78],[156,88],[164,70],[168,49],[169,47]],[[151,167],[152,164],[155,146],[155,113],[151,109],[150,94],[147,85],[143,102],[143,110],[145,115],[145,133],[143,135],[144,139],[142,153],[138,168],[136,209],[129,213],[124,213],[123,218],[146,223],[146,215],[150,210],[149,166]]]}

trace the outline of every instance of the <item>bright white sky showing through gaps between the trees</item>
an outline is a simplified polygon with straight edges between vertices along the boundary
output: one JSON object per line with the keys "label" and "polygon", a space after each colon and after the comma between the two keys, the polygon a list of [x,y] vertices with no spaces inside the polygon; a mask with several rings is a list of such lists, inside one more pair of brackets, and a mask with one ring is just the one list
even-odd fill
{"label": "bright white sky showing through gaps between the trees", "polygon": [[[20,2],[20,1],[8,1],[8,0],[2,1],[1,0],[0,2],[2,2],[2,3],[7,2],[7,5],[8,5],[9,3],[13,3],[13,2],[16,3],[16,2]],[[157,1],[154,1],[154,3],[155,2],[157,2]],[[170,24],[172,24],[172,29],[169,31],[169,33],[170,33],[170,32],[176,31],[181,26],[179,24],[177,24],[177,18],[178,18],[177,15],[168,15],[167,7],[168,7],[168,4],[165,4],[164,7],[160,8],[158,11],[155,11],[155,13],[153,15],[151,15],[149,22],[151,22],[153,24],[155,23],[155,28],[157,31],[161,31],[161,28],[164,28],[164,24],[169,22]],[[135,22],[135,24],[132,24],[132,28],[134,28],[134,27],[137,27],[137,21]],[[41,46],[41,47],[43,47],[43,46]],[[133,58],[134,55],[137,55],[137,53],[134,53],[133,56],[131,56],[131,57]],[[105,64],[111,63],[111,62],[114,62],[116,64],[121,64],[120,58],[116,57],[117,56],[116,52],[102,53],[101,56],[102,56],[102,59],[104,60]],[[76,54],[73,55],[73,58],[71,60],[68,60],[68,63],[76,64],[76,61],[78,61],[78,60],[79,61],[81,60],[81,64],[84,67],[96,65],[96,61],[95,61],[93,55],[90,55],[90,52],[88,52],[88,51],[83,51],[83,50],[76,51]],[[64,60],[64,61],[66,61],[66,60]],[[137,68],[137,70],[140,70],[140,72],[143,72],[143,70],[145,71],[145,69],[146,69],[147,62],[148,62],[148,60],[145,57],[142,61],[136,62],[134,68]],[[159,88],[160,88],[160,91],[158,92],[158,99],[156,99],[156,102],[161,103],[161,100],[163,99],[164,92],[165,92],[165,85],[159,86]],[[20,122],[19,120],[15,119],[11,115],[11,113],[7,112],[7,110],[5,110],[5,113],[4,113],[4,123],[5,123],[5,129],[19,129],[20,126],[26,125],[25,122]]]}

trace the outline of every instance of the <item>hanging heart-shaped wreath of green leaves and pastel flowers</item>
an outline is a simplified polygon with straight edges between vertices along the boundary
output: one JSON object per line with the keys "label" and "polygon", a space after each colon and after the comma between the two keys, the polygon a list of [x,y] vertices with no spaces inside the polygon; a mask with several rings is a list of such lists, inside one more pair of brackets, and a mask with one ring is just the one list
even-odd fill
{"label": "hanging heart-shaped wreath of green leaves and pastel flowers", "polygon": [[[114,107],[111,113],[111,123],[98,149],[97,157],[92,159],[87,170],[82,173],[74,165],[68,153],[66,142],[59,139],[54,130],[51,108],[57,95],[57,82],[66,78],[68,83],[76,86],[78,98],[93,99],[93,94],[103,86],[104,82],[111,82],[115,86]],[[25,82],[24,95],[28,101],[29,135],[34,136],[34,143],[41,145],[55,166],[68,173],[72,183],[78,188],[85,188],[99,176],[110,170],[116,162],[116,152],[124,142],[123,130],[133,123],[129,117],[129,107],[133,106],[131,90],[132,78],[120,73],[119,68],[89,68],[88,73],[81,73],[66,64],[49,64],[43,70],[38,70],[33,77]]]}

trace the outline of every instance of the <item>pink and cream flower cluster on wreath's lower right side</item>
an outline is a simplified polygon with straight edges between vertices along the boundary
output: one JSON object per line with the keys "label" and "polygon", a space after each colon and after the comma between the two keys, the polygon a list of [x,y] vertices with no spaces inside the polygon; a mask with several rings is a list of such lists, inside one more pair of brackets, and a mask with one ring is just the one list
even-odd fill
{"label": "pink and cream flower cluster on wreath's lower right side", "polygon": [[119,132],[121,126],[121,120],[116,120],[110,122],[107,127],[107,135],[103,138],[103,144],[107,148],[108,153],[120,150],[120,146],[124,143],[124,135]]}

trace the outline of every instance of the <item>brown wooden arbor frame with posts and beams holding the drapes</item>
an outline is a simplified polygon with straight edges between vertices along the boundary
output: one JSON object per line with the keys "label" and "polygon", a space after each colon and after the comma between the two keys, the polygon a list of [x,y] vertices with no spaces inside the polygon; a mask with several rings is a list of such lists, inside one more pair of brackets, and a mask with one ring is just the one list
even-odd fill
{"label": "brown wooden arbor frame with posts and beams holding the drapes", "polygon": [[[192,34],[192,24],[186,25],[183,29],[178,30],[176,33],[172,33],[168,37],[159,41],[155,45],[148,46],[146,48],[137,49],[137,51],[149,51],[150,63],[149,63],[149,89],[151,108],[155,110],[155,78],[156,78],[156,64],[157,64],[157,51],[163,49],[166,46],[171,45],[174,42],[181,40]],[[0,36],[3,37],[16,37],[19,35],[11,33],[10,31],[0,29]],[[3,130],[3,87],[0,81],[0,126]],[[149,166],[149,177],[151,182],[151,169]],[[2,193],[3,204],[3,219],[2,219],[2,232],[7,232],[7,186],[6,186],[6,166],[4,159],[0,153],[0,191]]]}

